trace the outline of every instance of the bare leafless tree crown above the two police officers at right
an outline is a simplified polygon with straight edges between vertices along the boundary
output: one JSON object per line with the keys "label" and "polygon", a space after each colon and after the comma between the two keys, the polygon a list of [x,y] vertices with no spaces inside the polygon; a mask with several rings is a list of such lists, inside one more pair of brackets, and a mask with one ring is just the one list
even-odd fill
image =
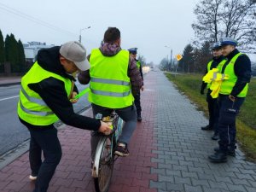
{"label": "bare leafless tree crown above the two police officers at right", "polygon": [[256,49],[256,4],[254,0],[201,0],[192,25],[199,43],[207,39],[236,38],[243,50]]}

